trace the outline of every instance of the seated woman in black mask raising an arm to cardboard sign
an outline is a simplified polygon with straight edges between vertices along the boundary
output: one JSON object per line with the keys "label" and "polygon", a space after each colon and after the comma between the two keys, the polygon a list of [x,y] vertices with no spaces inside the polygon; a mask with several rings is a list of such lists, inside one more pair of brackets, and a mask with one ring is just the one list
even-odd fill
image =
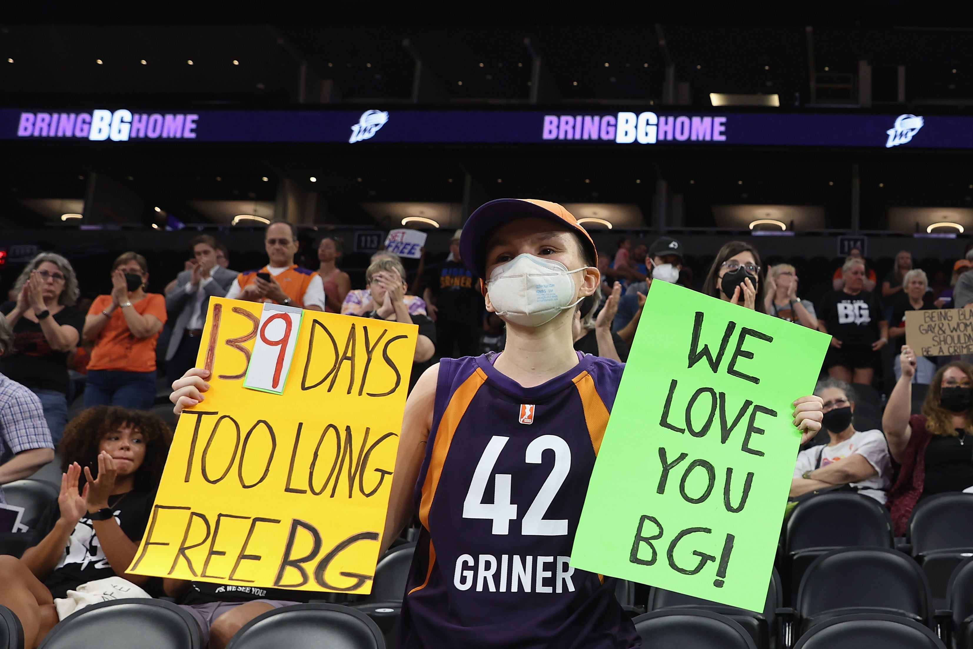
{"label": "seated woman in black mask raising an arm to cardboard sign", "polygon": [[888,492],[895,535],[905,533],[920,499],[973,487],[973,365],[954,361],[939,368],[922,403],[912,413],[916,352],[899,354],[902,376],[888,395],[882,427],[892,459],[902,465]]}

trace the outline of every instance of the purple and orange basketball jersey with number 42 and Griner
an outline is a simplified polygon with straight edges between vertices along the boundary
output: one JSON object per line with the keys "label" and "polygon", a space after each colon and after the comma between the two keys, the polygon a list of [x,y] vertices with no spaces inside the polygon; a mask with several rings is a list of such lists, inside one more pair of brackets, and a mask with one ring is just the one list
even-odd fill
{"label": "purple and orange basketball jersey with number 42 and Griner", "polygon": [[570,564],[624,367],[579,356],[529,388],[493,355],[441,361],[400,649],[640,646],[614,581]]}

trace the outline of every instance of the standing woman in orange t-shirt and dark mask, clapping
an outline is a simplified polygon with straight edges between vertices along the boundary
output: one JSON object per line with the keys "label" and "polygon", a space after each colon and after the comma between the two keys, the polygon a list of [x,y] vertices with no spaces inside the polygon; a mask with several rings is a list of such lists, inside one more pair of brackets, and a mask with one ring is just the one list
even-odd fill
{"label": "standing woman in orange t-shirt and dark mask, clapping", "polygon": [[112,292],[99,295],[85,318],[88,362],[85,408],[148,410],[156,402],[156,342],[165,323],[165,298],[147,293],[149,265],[137,252],[112,265]]}

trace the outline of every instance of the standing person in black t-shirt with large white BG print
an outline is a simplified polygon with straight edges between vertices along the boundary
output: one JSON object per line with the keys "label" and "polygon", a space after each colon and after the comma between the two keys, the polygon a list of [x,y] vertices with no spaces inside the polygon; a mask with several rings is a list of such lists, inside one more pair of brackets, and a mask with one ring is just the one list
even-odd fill
{"label": "standing person in black t-shirt with large white BG print", "polygon": [[824,294],[817,306],[818,329],[831,334],[824,369],[832,379],[871,384],[888,343],[882,300],[865,290],[865,263],[849,259],[842,268],[845,287]]}

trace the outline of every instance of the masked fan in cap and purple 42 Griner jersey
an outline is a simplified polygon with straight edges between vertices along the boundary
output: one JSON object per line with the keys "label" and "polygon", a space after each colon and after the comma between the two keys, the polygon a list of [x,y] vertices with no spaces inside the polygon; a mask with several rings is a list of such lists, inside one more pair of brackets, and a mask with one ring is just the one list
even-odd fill
{"label": "masked fan in cap and purple 42 Griner jersey", "polygon": [[[571,565],[571,547],[623,364],[574,350],[574,310],[600,281],[595,245],[557,203],[503,198],[460,239],[506,323],[502,353],[443,359],[406,402],[384,551],[421,523],[400,649],[633,649],[610,578]],[[173,383],[197,405],[202,370]],[[811,439],[821,400],[795,402]]]}

